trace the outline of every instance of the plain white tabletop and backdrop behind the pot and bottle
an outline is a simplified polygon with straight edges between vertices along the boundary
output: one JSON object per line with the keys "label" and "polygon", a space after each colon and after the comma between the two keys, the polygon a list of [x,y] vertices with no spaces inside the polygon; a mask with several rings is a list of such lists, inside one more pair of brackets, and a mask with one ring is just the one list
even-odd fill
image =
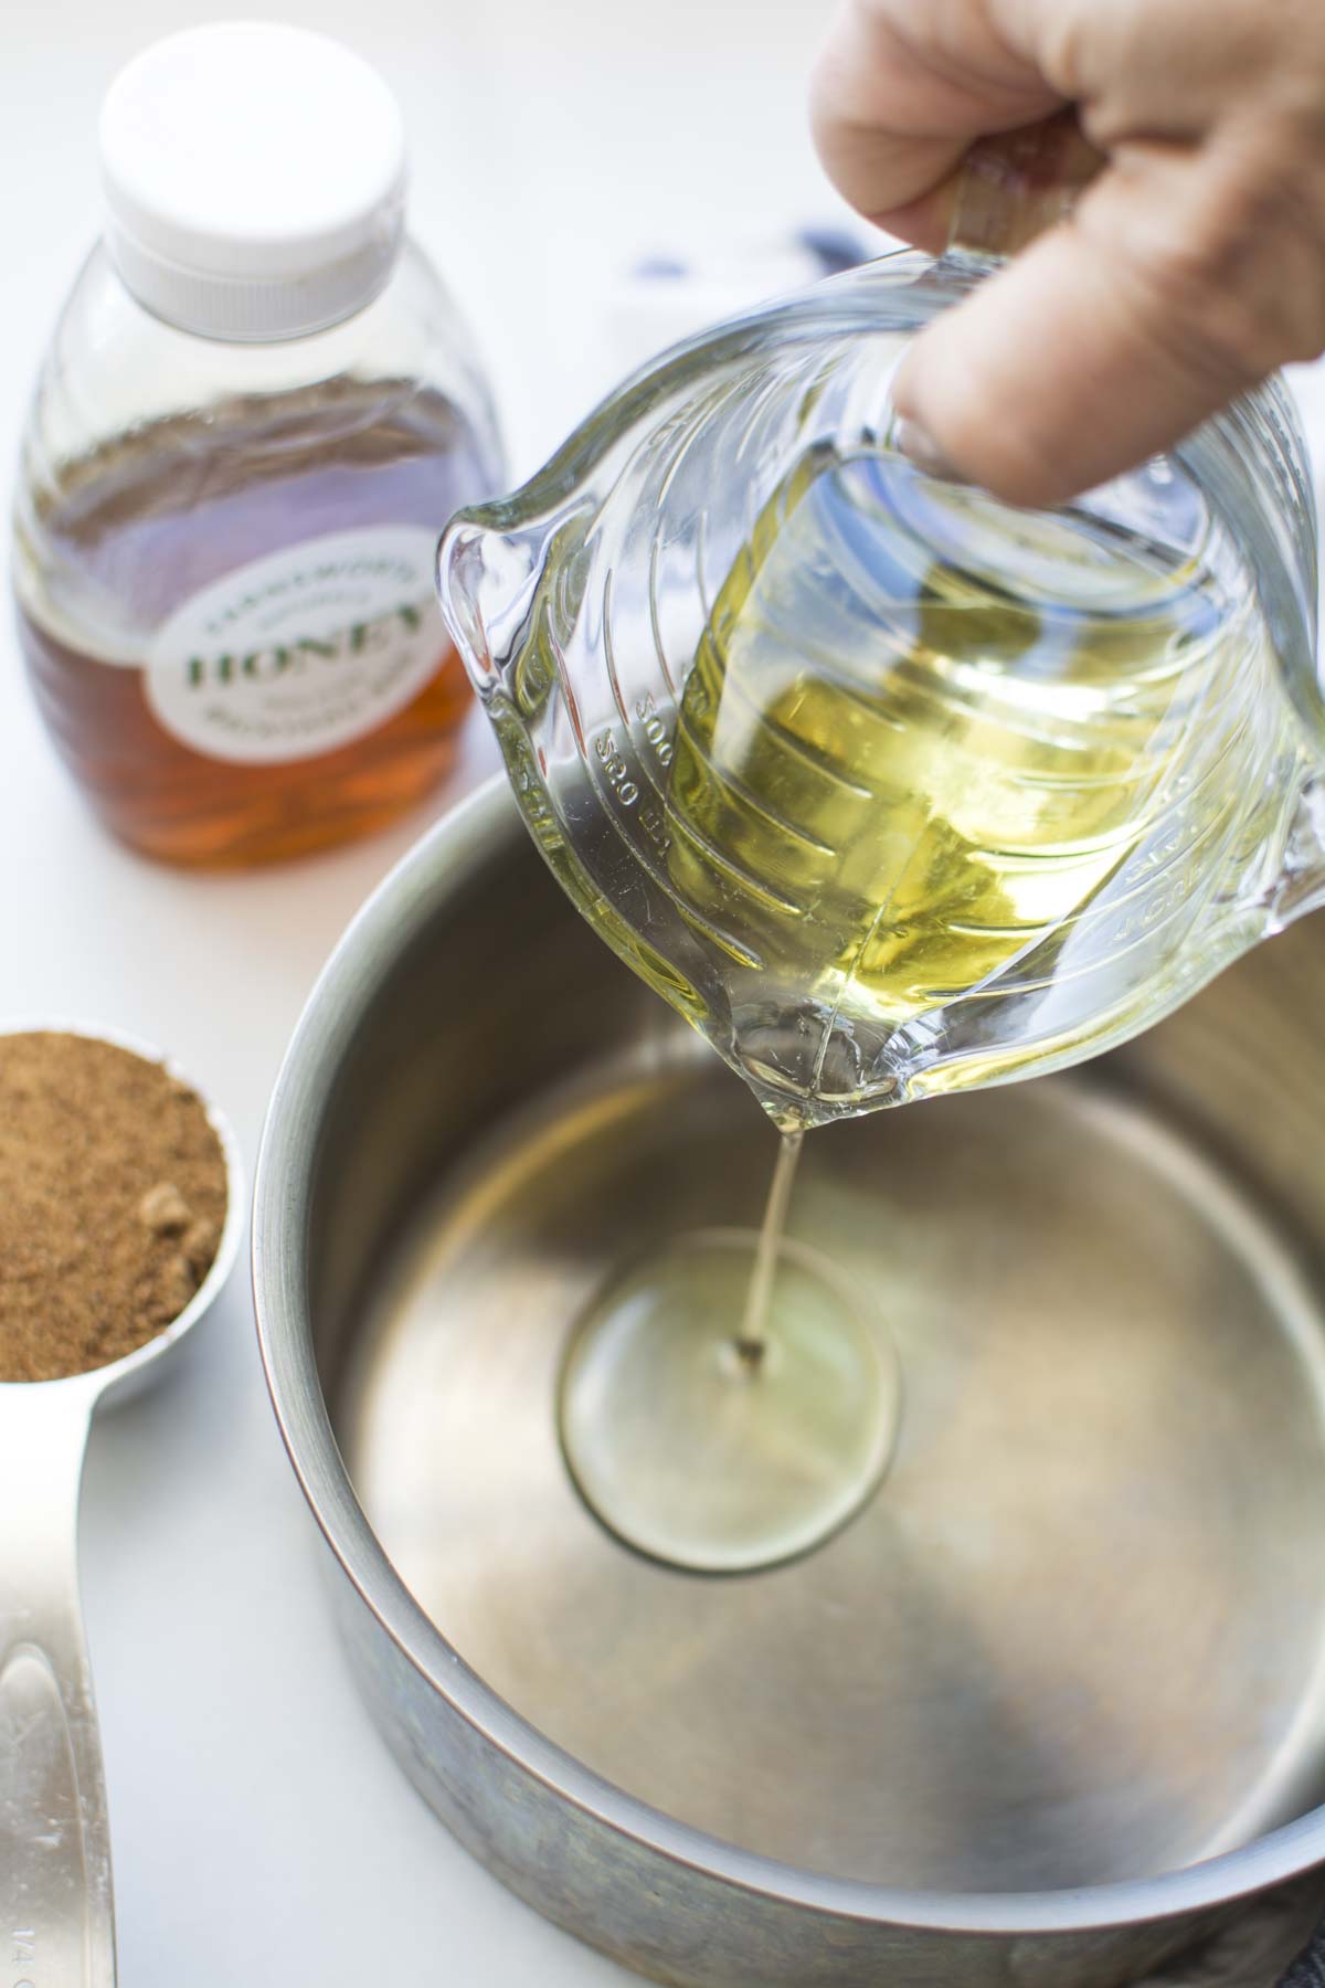
{"label": "plain white tabletop and backdrop behind the pot and bottle", "polygon": [[[101,91],[147,40],[211,12],[179,0],[4,8],[6,465],[50,320],[95,229]],[[520,475],[620,364],[604,298],[636,256],[679,248],[721,262],[840,217],[803,111],[822,14],[812,0],[282,8],[344,36],[397,89],[415,233],[481,336]],[[465,777],[487,763],[473,728]],[[318,966],[445,799],[385,837],[282,871],[151,867],[85,815],[38,726],[6,620],[0,1014],[77,1014],[169,1048],[230,1115],[252,1169]],[[471,1863],[379,1747],[328,1628],[312,1521],[262,1388],[246,1266],[203,1334],[177,1378],[93,1431],[85,1477],[121,1980],[624,1984]],[[0,1529],[14,1523],[0,1515]]]}

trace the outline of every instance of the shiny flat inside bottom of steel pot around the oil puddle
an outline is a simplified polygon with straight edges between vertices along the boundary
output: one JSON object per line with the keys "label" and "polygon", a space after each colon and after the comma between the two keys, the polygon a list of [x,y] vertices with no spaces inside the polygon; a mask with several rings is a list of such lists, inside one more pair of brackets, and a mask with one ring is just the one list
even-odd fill
{"label": "shiny flat inside bottom of steel pot around the oil puddle", "polygon": [[608,1064],[415,1217],[338,1427],[431,1620],[608,1781],[838,1877],[1095,1885],[1311,1807],[1317,1292],[1146,1105],[1041,1083],[816,1133],[791,1233],[882,1294],[884,1489],[751,1580],[667,1574],[586,1511],[568,1324],[660,1227],[755,1219],[771,1137],[709,1060]]}

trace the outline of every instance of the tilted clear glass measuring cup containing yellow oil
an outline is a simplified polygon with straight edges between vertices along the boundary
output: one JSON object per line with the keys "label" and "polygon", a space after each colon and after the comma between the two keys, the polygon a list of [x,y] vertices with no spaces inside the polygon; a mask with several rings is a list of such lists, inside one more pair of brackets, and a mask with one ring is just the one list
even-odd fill
{"label": "tilted clear glass measuring cup containing yellow oil", "polygon": [[981,187],[975,247],[677,346],[441,547],[544,857],[783,1127],[1093,1054],[1325,897],[1285,390],[1043,513],[892,445]]}

